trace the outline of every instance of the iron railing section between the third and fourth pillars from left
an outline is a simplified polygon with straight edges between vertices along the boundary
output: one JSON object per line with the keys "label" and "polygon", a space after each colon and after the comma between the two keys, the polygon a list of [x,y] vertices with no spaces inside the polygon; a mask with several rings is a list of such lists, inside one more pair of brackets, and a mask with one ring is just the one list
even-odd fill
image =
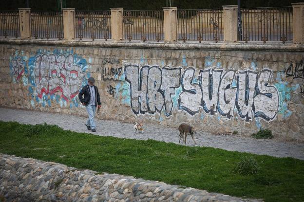
{"label": "iron railing section between the third and fourth pillars from left", "polygon": [[124,39],[164,40],[164,11],[124,11]]}

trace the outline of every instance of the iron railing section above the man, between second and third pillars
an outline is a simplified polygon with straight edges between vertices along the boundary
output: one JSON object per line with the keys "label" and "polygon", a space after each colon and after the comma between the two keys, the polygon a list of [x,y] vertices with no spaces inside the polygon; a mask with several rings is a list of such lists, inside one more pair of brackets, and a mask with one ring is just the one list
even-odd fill
{"label": "iron railing section above the man, between second and third pillars", "polygon": [[111,38],[111,11],[75,11],[75,37]]}

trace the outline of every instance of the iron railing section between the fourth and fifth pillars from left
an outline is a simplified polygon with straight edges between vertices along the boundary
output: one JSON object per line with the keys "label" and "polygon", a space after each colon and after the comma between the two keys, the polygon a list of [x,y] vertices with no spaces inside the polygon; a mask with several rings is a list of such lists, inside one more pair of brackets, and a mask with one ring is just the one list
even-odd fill
{"label": "iron railing section between the fourth and fifth pillars from left", "polygon": [[177,39],[223,40],[223,9],[177,10]]}

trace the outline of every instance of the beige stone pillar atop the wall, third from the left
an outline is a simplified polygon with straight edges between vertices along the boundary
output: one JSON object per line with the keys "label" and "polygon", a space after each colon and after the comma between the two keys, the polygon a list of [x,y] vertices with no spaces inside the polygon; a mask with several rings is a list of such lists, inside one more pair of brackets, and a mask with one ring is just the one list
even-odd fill
{"label": "beige stone pillar atop the wall, third from the left", "polygon": [[111,33],[114,41],[123,39],[123,8],[111,9]]}

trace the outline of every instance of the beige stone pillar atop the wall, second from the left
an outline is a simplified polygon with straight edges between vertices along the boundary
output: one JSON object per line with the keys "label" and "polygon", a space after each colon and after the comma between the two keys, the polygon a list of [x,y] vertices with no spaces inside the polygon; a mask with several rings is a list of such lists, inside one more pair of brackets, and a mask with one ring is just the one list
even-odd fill
{"label": "beige stone pillar atop the wall, second from the left", "polygon": [[62,8],[63,34],[65,40],[75,38],[75,8]]}

